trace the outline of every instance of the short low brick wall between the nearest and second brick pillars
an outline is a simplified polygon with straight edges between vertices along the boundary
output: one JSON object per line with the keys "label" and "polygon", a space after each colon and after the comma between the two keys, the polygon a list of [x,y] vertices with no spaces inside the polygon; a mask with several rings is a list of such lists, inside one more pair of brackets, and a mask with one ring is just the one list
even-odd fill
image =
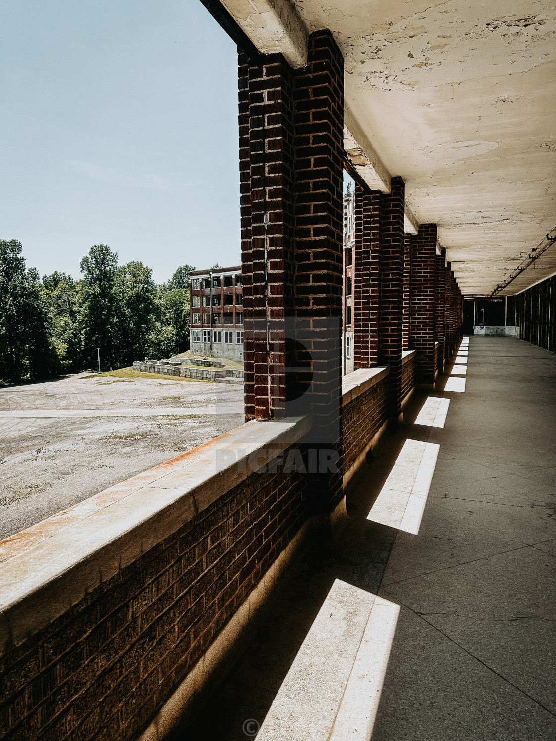
{"label": "short low brick wall between the nearest and second brick pillars", "polygon": [[343,467],[349,471],[388,419],[388,376],[343,406]]}

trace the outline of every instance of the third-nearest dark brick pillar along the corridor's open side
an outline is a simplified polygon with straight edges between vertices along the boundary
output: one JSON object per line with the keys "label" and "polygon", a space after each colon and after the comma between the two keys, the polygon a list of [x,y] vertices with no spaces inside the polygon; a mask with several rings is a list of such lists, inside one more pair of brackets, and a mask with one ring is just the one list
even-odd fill
{"label": "third-nearest dark brick pillar along the corridor's open side", "polygon": [[421,224],[411,238],[409,344],[417,350],[415,379],[434,385],[434,308],[437,268],[437,225]]}

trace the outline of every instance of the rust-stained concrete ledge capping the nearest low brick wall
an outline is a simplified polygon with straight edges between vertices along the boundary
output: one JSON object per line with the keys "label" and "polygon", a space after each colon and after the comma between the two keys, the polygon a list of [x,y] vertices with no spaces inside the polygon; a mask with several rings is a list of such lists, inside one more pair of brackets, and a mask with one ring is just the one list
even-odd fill
{"label": "rust-stained concrete ledge capping the nearest low brick wall", "polygon": [[0,543],[0,651],[19,645],[305,436],[248,422]]}

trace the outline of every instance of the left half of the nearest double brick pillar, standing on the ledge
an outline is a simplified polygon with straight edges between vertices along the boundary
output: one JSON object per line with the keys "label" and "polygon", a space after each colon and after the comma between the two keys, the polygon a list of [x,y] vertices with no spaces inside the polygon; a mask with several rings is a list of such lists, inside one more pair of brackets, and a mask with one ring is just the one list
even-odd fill
{"label": "left half of the nearest double brick pillar, standing on the ledge", "polygon": [[293,71],[278,54],[257,61],[239,55],[246,421],[284,416],[294,283]]}

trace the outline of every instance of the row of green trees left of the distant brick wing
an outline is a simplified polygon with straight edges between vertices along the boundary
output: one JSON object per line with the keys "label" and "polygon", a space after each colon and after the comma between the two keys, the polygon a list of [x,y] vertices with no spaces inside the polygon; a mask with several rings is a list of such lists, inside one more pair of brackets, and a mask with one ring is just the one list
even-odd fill
{"label": "row of green trees left of the distant brick wing", "polygon": [[0,241],[0,379],[16,382],[133,360],[170,357],[189,348],[189,273],[168,283],[132,260],[118,264],[107,245],[81,261],[82,278],[26,268],[21,243]]}

